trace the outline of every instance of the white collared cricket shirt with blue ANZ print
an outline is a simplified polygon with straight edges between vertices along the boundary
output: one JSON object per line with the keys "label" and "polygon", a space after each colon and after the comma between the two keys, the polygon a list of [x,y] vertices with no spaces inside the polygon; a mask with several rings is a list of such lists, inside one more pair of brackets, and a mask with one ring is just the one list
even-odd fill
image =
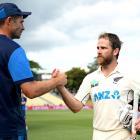
{"label": "white collared cricket shirt with blue ANZ print", "polygon": [[84,78],[75,98],[85,104],[91,96],[95,129],[118,130],[123,129],[118,120],[118,110],[132,100],[133,91],[137,88],[138,85],[124,76],[118,66],[107,77],[99,68]]}

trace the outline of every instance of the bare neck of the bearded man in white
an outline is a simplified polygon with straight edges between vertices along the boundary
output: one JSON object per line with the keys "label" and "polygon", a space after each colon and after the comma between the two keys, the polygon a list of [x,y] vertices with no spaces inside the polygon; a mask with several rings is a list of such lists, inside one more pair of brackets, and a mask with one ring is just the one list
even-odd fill
{"label": "bare neck of the bearded man in white", "polygon": [[108,76],[112,71],[114,71],[117,64],[118,64],[117,61],[112,61],[110,64],[108,64],[106,66],[101,66],[101,70],[102,70],[104,76]]}

